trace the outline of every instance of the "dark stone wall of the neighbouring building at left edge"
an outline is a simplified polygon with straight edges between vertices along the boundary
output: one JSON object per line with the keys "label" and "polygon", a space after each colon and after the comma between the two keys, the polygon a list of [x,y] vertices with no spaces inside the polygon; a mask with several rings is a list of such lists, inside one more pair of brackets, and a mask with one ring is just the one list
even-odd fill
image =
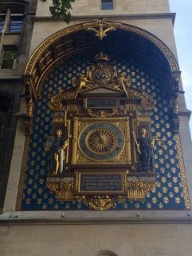
{"label": "dark stone wall of the neighbouring building at left edge", "polygon": [[[10,104],[10,120],[6,127],[6,135],[3,141],[3,146],[5,147],[2,154],[2,161],[0,162],[0,212],[2,211],[5,199],[10,162],[13,154],[14,136],[17,129],[18,117],[14,116],[14,114],[18,113],[20,110],[20,96],[24,94],[22,74],[24,74],[25,65],[28,61],[29,46],[33,30],[31,17],[34,15],[36,4],[37,0],[33,0],[26,11],[24,30],[21,33],[7,32],[0,42],[0,48],[7,45],[18,47],[17,66],[15,66],[14,69],[0,69],[0,94],[4,97],[12,98]],[[21,152],[19,152],[19,154],[21,154]]]}

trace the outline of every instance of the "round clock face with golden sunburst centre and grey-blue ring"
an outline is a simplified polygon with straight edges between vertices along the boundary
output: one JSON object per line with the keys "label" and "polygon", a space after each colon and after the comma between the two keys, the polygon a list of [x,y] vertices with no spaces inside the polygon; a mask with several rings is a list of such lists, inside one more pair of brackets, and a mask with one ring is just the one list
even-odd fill
{"label": "round clock face with golden sunburst centre and grey-blue ring", "polygon": [[123,150],[124,136],[111,122],[94,122],[82,130],[79,137],[81,152],[95,161],[108,161]]}

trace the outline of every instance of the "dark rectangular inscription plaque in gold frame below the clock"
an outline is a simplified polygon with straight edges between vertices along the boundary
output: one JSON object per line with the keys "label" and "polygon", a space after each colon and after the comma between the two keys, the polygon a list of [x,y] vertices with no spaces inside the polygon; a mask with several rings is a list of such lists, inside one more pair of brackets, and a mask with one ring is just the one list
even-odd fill
{"label": "dark rectangular inscription plaque in gold frame below the clock", "polygon": [[123,172],[78,173],[79,186],[76,192],[80,194],[123,194]]}

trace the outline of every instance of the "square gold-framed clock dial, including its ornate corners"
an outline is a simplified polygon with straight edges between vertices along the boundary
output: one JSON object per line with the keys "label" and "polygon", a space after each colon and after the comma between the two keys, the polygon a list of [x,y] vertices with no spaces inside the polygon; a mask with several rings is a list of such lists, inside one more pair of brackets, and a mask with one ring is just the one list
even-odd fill
{"label": "square gold-framed clock dial, including its ornate corners", "polygon": [[130,163],[129,118],[76,118],[73,132],[73,164]]}

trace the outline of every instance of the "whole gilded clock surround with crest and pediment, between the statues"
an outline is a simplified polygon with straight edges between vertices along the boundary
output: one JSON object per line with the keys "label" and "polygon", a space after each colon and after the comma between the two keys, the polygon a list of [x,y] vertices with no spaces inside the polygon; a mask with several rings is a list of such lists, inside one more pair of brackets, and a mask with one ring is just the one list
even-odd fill
{"label": "whole gilded clock surround with crest and pediment, between the statues", "polygon": [[94,210],[111,208],[119,196],[143,201],[156,182],[155,173],[137,167],[138,134],[142,128],[150,134],[148,110],[155,100],[131,88],[131,78],[116,74],[108,61],[106,54],[96,55],[88,74],[72,78],[72,89],[49,102],[57,111],[54,127],[65,127],[67,136],[56,159],[63,171],[50,169],[46,184],[57,200],[84,202]]}

